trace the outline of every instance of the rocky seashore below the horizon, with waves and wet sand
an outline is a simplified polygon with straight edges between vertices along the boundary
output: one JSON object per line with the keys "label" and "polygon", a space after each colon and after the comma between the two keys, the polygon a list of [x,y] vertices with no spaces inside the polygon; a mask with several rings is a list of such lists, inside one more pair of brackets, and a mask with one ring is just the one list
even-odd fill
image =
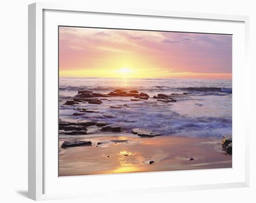
{"label": "rocky seashore below the horizon, with waves and wet sand", "polygon": [[59,176],[232,167],[231,80],[60,78],[59,119]]}

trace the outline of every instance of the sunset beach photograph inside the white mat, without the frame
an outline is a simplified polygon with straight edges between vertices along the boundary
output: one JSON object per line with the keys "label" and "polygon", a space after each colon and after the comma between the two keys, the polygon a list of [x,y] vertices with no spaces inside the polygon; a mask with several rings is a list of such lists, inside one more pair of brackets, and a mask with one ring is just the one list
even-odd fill
{"label": "sunset beach photograph inside the white mat, without the frame", "polygon": [[59,177],[232,168],[231,34],[59,25],[58,57]]}

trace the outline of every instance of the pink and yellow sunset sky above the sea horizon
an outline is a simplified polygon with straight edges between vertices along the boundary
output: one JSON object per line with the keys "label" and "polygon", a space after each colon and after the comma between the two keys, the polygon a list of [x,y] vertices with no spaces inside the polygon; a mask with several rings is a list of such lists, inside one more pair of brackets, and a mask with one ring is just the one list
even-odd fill
{"label": "pink and yellow sunset sky above the sea horizon", "polygon": [[59,27],[60,77],[231,79],[232,36]]}

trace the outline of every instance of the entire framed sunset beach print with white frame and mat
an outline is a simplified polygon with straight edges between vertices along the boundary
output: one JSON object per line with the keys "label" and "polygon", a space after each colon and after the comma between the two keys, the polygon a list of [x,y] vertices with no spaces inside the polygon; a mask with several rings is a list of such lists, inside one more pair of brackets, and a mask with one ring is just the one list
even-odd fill
{"label": "entire framed sunset beach print with white frame and mat", "polygon": [[248,23],[29,5],[29,197],[248,186]]}

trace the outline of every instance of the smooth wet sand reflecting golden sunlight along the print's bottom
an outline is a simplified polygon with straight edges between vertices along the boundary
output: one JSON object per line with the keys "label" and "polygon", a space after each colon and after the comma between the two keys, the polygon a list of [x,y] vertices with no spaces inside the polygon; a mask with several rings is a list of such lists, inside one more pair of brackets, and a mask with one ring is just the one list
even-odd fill
{"label": "smooth wet sand reflecting golden sunlight along the print's bottom", "polygon": [[[232,167],[232,156],[222,151],[219,138],[141,138],[130,133],[109,133],[78,139],[92,141],[92,146],[63,149],[65,140],[69,139],[59,141],[59,176]],[[154,163],[149,164],[150,161]]]}

